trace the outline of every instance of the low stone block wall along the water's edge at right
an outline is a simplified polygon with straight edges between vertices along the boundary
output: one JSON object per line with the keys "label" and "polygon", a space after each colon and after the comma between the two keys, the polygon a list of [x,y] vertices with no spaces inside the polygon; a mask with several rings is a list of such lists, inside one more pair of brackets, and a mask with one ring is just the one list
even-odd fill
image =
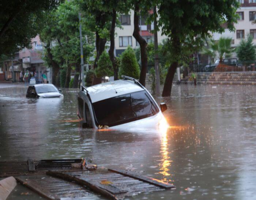
{"label": "low stone block wall along the water's edge at right", "polygon": [[[256,72],[209,72],[196,73],[197,84],[256,85]],[[181,84],[193,84],[188,78]]]}

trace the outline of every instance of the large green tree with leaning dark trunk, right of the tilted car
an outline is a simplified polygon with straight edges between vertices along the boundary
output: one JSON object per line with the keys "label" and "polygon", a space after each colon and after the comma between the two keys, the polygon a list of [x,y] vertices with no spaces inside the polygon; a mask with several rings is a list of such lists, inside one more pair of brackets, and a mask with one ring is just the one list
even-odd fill
{"label": "large green tree with leaning dark trunk, right of the tilted car", "polygon": [[[223,32],[223,23],[234,30],[237,22],[237,0],[156,0],[158,27],[168,36],[170,67],[166,76],[162,96],[170,96],[176,68],[182,60],[182,49],[196,49],[211,32]],[[153,17],[151,18],[153,21]]]}

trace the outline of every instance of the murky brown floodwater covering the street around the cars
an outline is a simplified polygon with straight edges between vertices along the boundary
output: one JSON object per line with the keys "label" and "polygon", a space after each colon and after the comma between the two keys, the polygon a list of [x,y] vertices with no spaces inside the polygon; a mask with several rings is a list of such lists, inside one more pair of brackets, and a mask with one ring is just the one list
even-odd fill
{"label": "murky brown floodwater covering the street around the cars", "polygon": [[[256,86],[173,86],[158,99],[167,133],[79,128],[77,92],[27,99],[24,86],[0,84],[0,161],[86,157],[177,187],[129,199],[256,199]],[[38,199],[27,191],[19,185],[9,199]]]}

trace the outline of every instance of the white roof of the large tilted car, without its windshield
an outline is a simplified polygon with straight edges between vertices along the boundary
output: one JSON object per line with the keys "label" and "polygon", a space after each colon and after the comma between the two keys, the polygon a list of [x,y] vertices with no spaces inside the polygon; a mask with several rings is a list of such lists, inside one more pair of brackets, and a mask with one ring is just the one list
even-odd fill
{"label": "white roof of the large tilted car, without its windshield", "polygon": [[131,92],[143,91],[144,88],[131,80],[117,80],[93,85],[86,90],[89,92],[92,103],[94,103]]}

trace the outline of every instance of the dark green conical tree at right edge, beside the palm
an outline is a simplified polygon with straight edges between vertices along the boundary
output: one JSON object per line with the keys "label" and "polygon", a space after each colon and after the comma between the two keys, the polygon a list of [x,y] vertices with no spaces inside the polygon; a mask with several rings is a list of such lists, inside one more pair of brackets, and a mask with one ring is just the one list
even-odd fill
{"label": "dark green conical tree at right edge, beside the palm", "polygon": [[247,40],[242,39],[237,47],[237,57],[240,62],[244,65],[251,64],[255,62],[256,59],[256,52],[255,46],[253,45],[253,38],[252,36],[248,35]]}

